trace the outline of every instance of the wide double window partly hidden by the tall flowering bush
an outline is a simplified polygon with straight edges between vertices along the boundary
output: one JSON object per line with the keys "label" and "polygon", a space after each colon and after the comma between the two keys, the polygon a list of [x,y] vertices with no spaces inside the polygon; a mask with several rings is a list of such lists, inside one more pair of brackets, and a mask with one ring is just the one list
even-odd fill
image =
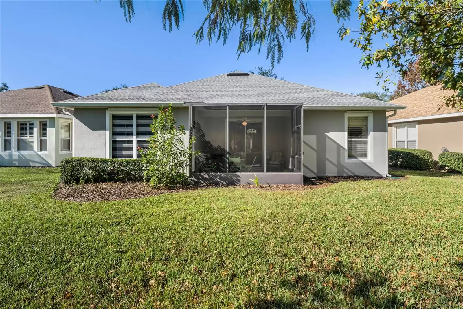
{"label": "wide double window partly hidden by the tall flowering bush", "polygon": [[[117,159],[141,158],[137,148],[148,148],[148,138],[153,135],[151,114],[111,115],[111,157]],[[135,132],[134,132],[135,130]]]}

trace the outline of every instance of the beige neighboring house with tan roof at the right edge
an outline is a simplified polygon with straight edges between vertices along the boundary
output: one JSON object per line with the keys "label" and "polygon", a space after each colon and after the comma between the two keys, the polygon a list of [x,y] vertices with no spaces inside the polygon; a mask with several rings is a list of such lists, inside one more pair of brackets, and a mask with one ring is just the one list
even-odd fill
{"label": "beige neighboring house with tan roof at the right edge", "polygon": [[388,120],[389,148],[418,148],[438,159],[441,149],[463,152],[463,110],[442,106],[451,90],[430,86],[399,97],[390,103],[407,106]]}

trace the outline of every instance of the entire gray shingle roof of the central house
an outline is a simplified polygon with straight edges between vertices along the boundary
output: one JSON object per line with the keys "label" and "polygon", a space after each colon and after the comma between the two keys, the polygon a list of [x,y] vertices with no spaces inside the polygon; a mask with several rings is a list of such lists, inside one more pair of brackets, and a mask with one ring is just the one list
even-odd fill
{"label": "entire gray shingle roof of the central house", "polygon": [[156,83],[64,101],[69,103],[294,103],[314,107],[390,107],[387,102],[248,74],[241,71],[163,87]]}

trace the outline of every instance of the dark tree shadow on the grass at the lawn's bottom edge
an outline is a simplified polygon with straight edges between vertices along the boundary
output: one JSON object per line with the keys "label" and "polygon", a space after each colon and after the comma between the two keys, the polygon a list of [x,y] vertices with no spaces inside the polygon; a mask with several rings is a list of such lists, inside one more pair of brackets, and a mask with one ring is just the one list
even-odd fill
{"label": "dark tree shadow on the grass at the lawn's bottom edge", "polygon": [[[346,285],[346,282],[349,284]],[[286,290],[295,297],[263,297],[246,307],[307,308],[310,305],[321,305],[323,308],[402,308],[405,303],[388,282],[389,279],[381,272],[358,273],[338,261],[331,270],[307,272],[278,284],[279,289]],[[388,293],[375,293],[378,290]]]}

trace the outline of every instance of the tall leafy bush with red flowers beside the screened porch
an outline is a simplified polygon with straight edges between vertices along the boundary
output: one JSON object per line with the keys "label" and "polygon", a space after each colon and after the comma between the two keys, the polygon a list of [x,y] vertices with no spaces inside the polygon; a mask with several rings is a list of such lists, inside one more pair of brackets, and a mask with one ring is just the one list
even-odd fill
{"label": "tall leafy bush with red flowers beside the screened porch", "polygon": [[150,182],[151,187],[185,185],[191,159],[199,154],[192,150],[195,138],[191,137],[185,145],[185,126],[175,124],[172,104],[169,108],[159,106],[157,118],[151,117],[153,136],[148,139],[148,148],[137,148],[147,166],[144,179]]}

